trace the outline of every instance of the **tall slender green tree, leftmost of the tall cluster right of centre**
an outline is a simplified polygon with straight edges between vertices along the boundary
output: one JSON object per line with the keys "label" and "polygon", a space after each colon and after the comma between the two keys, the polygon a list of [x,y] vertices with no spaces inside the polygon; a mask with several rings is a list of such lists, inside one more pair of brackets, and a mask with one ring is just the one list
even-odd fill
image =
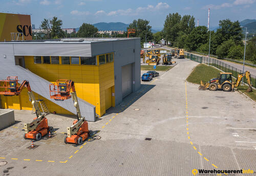
{"label": "tall slender green tree, leftmost of the tall cluster right of centre", "polygon": [[165,39],[174,43],[178,37],[178,32],[180,31],[180,20],[181,15],[179,13],[173,13],[166,16],[164,21],[163,33]]}

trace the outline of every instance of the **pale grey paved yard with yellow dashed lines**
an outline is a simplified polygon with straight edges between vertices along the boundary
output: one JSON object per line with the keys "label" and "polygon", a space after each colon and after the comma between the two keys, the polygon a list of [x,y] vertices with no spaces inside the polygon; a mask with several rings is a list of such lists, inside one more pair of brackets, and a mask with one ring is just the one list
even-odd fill
{"label": "pale grey paved yard with yellow dashed lines", "polygon": [[[64,144],[70,116],[49,115],[53,137],[23,139],[30,111],[0,131],[2,175],[193,175],[193,169],[256,171],[256,104],[239,92],[199,91],[185,80],[198,63],[185,59],[107,111],[81,146]],[[145,140],[148,138],[148,140]],[[0,162],[1,164],[1,162]],[[215,174],[217,175],[217,174]],[[235,174],[240,175],[240,174]]]}

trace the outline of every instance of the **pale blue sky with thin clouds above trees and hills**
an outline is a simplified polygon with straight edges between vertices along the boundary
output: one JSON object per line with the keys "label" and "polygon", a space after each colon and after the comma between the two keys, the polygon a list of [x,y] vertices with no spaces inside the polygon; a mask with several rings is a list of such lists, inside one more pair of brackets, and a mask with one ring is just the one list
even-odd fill
{"label": "pale blue sky with thin clouds above trees and hills", "polygon": [[218,26],[219,20],[255,19],[256,0],[0,0],[0,12],[32,14],[31,22],[39,28],[44,18],[57,16],[63,28],[77,28],[82,22],[131,23],[142,18],[150,21],[153,29],[163,28],[166,15],[178,12],[194,15],[201,26],[207,26],[210,8],[210,27]]}

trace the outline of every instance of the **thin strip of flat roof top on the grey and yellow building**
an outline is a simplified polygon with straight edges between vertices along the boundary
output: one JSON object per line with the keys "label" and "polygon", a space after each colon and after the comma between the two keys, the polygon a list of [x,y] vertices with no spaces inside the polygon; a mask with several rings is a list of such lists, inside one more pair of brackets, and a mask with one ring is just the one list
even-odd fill
{"label": "thin strip of flat roof top on the grey and yellow building", "polygon": [[140,38],[62,38],[62,39],[45,39],[45,40],[24,40],[24,41],[6,41],[0,43],[99,43],[110,41],[136,40]]}

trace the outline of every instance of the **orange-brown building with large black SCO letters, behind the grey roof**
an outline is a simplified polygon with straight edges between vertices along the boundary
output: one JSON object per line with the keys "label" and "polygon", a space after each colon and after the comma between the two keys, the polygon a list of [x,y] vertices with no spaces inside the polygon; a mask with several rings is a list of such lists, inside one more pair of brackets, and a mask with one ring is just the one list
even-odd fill
{"label": "orange-brown building with large black SCO letters, behind the grey roof", "polygon": [[0,41],[32,40],[30,15],[0,13]]}

